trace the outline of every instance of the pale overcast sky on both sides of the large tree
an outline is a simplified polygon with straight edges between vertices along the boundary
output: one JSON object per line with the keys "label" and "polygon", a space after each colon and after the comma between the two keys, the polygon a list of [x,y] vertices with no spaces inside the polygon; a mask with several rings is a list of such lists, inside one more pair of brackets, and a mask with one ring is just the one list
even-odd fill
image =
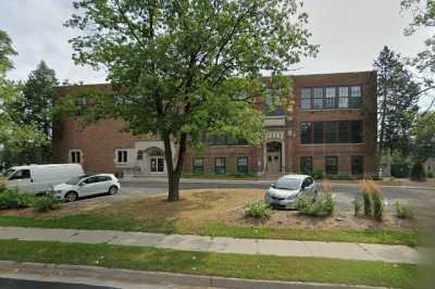
{"label": "pale overcast sky on both sides of the large tree", "polygon": [[[316,59],[295,65],[297,74],[371,70],[374,59],[387,45],[412,56],[423,49],[428,37],[420,32],[403,36],[409,13],[400,13],[400,0],[304,0],[310,15],[313,43],[321,46]],[[75,66],[67,39],[74,36],[63,27],[73,13],[71,0],[3,0],[0,29],[12,38],[18,52],[14,58],[13,79],[25,79],[40,60],[55,70],[60,80],[104,81],[103,72]]]}

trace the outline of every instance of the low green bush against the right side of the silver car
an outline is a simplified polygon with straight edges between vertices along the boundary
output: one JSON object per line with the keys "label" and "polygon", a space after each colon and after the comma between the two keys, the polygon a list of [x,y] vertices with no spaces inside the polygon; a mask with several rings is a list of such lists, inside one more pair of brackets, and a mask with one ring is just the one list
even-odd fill
{"label": "low green bush against the right side of the silver car", "polygon": [[323,192],[315,200],[308,197],[300,198],[297,209],[301,215],[326,217],[334,213],[335,202],[331,192]]}

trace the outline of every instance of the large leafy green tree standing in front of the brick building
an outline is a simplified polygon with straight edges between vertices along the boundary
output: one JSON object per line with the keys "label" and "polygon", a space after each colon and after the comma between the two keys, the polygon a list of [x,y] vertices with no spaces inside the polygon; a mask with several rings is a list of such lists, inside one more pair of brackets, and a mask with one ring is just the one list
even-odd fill
{"label": "large leafy green tree standing in front of the brick building", "polygon": [[[169,201],[179,199],[187,146],[214,133],[259,144],[260,73],[279,76],[318,50],[296,0],[76,0],[74,8],[65,25],[83,36],[71,39],[73,59],[105,67],[115,95],[88,93],[83,122],[121,117],[136,136],[160,136]],[[283,77],[271,86],[277,102],[291,101]]]}

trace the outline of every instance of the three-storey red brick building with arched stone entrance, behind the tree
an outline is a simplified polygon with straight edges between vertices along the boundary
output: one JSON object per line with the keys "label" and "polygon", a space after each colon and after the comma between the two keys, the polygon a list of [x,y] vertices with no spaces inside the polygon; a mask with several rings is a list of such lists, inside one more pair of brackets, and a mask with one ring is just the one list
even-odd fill
{"label": "three-storey red brick building with arched stone entrance, behind the tree", "polygon": [[[200,154],[188,150],[184,172],[206,174],[290,172],[371,175],[375,169],[376,75],[374,72],[289,76],[295,110],[265,113],[266,140],[210,140]],[[60,87],[74,95],[89,86]],[[110,92],[109,85],[94,88]],[[53,128],[53,161],[82,163],[87,172],[165,174],[163,142],[122,133],[122,121],[104,120],[80,130],[65,118]]]}

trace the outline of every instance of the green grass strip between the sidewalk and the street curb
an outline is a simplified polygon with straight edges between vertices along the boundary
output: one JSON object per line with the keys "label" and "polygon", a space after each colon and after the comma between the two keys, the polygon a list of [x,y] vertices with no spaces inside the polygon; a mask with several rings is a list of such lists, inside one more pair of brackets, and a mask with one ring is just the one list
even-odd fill
{"label": "green grass strip between the sidewalk and the street curb", "polygon": [[314,257],[220,254],[112,244],[0,240],[0,259],[247,279],[418,288],[414,265]]}

